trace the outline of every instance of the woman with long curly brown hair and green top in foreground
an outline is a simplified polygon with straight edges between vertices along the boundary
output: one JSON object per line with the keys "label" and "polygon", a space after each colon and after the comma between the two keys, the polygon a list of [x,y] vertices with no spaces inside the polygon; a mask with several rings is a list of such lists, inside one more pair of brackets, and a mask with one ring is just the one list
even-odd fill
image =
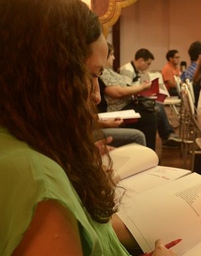
{"label": "woman with long curly brown hair and green top in foreground", "polygon": [[97,16],[79,0],[1,0],[0,15],[0,255],[128,255],[92,133]]}

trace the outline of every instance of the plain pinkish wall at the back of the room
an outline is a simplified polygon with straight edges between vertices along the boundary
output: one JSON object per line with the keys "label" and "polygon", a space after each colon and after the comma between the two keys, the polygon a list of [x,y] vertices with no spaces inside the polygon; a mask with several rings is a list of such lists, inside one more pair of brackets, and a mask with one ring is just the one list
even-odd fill
{"label": "plain pinkish wall at the back of the room", "polygon": [[189,45],[201,41],[200,4],[200,0],[138,0],[122,9],[121,65],[140,48],[155,55],[151,69],[160,70],[171,49],[177,49],[180,60],[189,64]]}

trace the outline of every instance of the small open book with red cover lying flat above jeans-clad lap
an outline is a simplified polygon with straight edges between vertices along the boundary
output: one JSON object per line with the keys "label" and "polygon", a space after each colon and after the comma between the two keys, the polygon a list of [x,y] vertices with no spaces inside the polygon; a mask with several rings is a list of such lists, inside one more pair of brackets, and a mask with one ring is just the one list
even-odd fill
{"label": "small open book with red cover lying flat above jeans-clad lap", "polygon": [[124,119],[124,123],[135,122],[141,117],[141,115],[133,109],[98,113],[98,115],[100,120],[121,118]]}

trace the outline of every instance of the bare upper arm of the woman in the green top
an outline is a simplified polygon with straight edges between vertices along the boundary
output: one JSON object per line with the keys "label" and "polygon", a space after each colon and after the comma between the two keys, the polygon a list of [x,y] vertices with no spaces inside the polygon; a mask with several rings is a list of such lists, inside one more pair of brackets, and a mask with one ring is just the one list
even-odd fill
{"label": "bare upper arm of the woman in the green top", "polygon": [[13,255],[82,255],[77,219],[57,201],[38,203]]}

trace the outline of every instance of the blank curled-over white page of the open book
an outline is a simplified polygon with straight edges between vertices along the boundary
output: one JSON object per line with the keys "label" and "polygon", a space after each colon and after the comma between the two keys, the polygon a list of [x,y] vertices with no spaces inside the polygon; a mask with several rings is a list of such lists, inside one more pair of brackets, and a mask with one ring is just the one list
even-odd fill
{"label": "blank curled-over white page of the open book", "polygon": [[158,156],[150,148],[139,144],[128,144],[110,152],[114,170],[121,179],[143,172],[158,165]]}

